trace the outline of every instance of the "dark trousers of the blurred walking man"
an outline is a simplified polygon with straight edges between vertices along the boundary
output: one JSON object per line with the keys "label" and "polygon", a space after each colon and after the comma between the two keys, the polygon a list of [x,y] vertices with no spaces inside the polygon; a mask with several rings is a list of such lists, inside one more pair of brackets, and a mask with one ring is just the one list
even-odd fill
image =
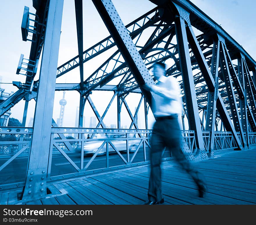
{"label": "dark trousers of the blurred walking man", "polygon": [[191,165],[182,152],[180,148],[181,137],[178,117],[176,115],[156,119],[151,137],[151,171],[147,193],[149,201],[161,201],[163,199],[161,161],[164,147],[167,147],[172,152],[177,162],[192,176],[198,186],[204,183],[203,176]]}

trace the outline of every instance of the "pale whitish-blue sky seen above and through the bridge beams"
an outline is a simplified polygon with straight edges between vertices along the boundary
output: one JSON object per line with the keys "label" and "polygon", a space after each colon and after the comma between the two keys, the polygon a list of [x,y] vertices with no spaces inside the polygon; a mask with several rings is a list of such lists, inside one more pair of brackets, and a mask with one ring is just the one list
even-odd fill
{"label": "pale whitish-blue sky seen above and through the bridge beams", "polygon": [[[227,31],[242,47],[256,59],[256,26],[255,26],[255,8],[254,0],[192,0],[203,12],[211,17],[215,22],[221,24],[222,28]],[[148,0],[113,0],[123,23],[126,25],[144,13],[148,12],[155,5]],[[25,76],[16,75],[16,69],[20,54],[24,54],[24,58],[29,58],[31,42],[22,41],[21,36],[21,20],[24,6],[28,6],[31,13],[35,13],[32,6],[32,0],[1,0],[0,21],[1,21],[1,36],[0,36],[0,76],[3,83],[12,83],[12,81],[25,81]],[[75,22],[74,1],[64,0],[61,41],[59,49],[58,66],[65,63],[67,60],[78,55],[77,48],[77,33]],[[86,50],[100,40],[109,35],[102,19],[97,13],[93,3],[90,0],[83,1],[83,49]],[[110,51],[111,53],[113,51]],[[106,53],[102,59],[110,56]],[[96,57],[97,58],[97,57]],[[90,60],[84,64],[84,76],[87,78],[104,60]],[[40,67],[38,67],[40,68]],[[38,74],[35,78],[38,79]],[[56,80],[56,83],[79,83],[79,67],[66,73]],[[17,91],[17,88],[11,84],[1,84],[6,92]],[[60,105],[59,100],[62,98],[63,92],[55,92],[55,103],[53,118],[56,120],[59,117]],[[93,92],[91,98],[98,109],[100,115],[103,114],[105,107],[113,96],[113,92]],[[64,126],[73,127],[75,123],[75,112],[79,106],[79,94],[76,91],[66,92]],[[138,95],[130,94],[126,98],[130,109],[134,112],[134,99],[138,99]],[[139,100],[136,100],[137,102]],[[143,106],[143,104],[142,104]],[[34,117],[35,101],[29,103],[29,111],[27,115],[26,125],[29,123],[30,117]],[[125,107],[122,107],[121,125],[130,124],[128,114],[125,113]],[[11,109],[11,117],[22,119],[24,109],[24,101],[20,101]],[[84,116],[86,117],[86,126],[89,126],[90,116],[94,116],[90,106],[86,104]],[[140,109],[140,117],[143,121],[144,109]],[[116,101],[112,103],[109,113],[105,117],[105,124],[116,124]],[[150,119],[149,126],[153,120]],[[144,122],[142,122],[143,124]],[[144,128],[143,125],[141,128]],[[150,127],[149,127],[150,128]]]}

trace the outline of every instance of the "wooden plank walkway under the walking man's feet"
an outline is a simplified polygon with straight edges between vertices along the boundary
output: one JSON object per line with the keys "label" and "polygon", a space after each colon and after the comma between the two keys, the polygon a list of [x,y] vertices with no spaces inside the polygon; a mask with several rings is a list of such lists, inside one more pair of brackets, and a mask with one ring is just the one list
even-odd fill
{"label": "wooden plank walkway under the walking man's feet", "polygon": [[[174,160],[162,163],[164,204],[256,204],[256,147],[220,151],[194,163],[206,178],[208,192],[198,197],[195,183]],[[147,200],[150,166],[143,165],[49,185],[56,196],[29,204],[143,204]],[[62,195],[60,195],[62,194]],[[0,195],[1,204],[14,204],[16,192]]]}

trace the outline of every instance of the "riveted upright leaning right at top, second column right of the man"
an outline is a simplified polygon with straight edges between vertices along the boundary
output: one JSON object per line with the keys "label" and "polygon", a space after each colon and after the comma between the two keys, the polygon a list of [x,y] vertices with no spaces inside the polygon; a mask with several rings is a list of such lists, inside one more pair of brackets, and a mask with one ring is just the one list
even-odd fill
{"label": "riveted upright leaning right at top, second column right of the man", "polygon": [[210,145],[209,151],[211,156],[214,152],[214,131],[215,131],[215,121],[216,121],[216,100],[218,98],[218,68],[219,68],[219,53],[220,53],[220,41],[214,40],[213,43],[213,53],[211,59],[211,74],[215,80],[214,91],[208,91],[208,104],[207,104],[207,113],[206,113],[206,123],[205,130],[210,131]]}

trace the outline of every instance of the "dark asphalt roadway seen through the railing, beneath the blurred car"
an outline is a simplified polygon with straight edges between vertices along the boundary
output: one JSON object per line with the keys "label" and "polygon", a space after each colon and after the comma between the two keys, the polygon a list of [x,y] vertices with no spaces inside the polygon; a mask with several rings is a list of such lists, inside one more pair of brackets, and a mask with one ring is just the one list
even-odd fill
{"label": "dark asphalt roadway seen through the railing, beneath the blurred car", "polygon": [[[81,162],[81,153],[76,151],[65,151],[67,156],[78,166],[80,167]],[[121,155],[127,160],[127,152],[120,152]],[[129,158],[133,157],[134,153],[129,153]],[[90,161],[93,155],[84,155],[83,157],[83,166]],[[9,156],[1,156],[0,165],[3,165],[9,158]],[[149,160],[149,148],[146,147],[146,157]],[[168,152],[165,152],[163,158],[170,157]],[[141,147],[132,162],[143,162],[144,153],[143,147]],[[125,162],[116,152],[109,153],[109,167],[124,165]],[[20,155],[15,158],[9,165],[3,168],[0,171],[0,184],[15,183],[25,181],[26,170],[28,165],[28,155]],[[101,169],[106,167],[106,155],[98,155],[95,157],[93,162],[87,168],[87,170]],[[68,162],[68,160],[59,152],[53,153],[52,162],[51,162],[51,176],[64,175],[69,173],[75,173],[77,170]]]}

